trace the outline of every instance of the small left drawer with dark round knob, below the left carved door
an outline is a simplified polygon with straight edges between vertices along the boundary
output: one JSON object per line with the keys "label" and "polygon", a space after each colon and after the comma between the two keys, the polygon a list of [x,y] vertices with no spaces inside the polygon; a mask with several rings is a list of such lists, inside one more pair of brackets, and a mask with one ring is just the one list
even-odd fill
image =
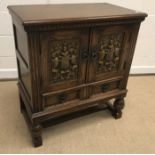
{"label": "small left drawer with dark round knob, below the left carved door", "polygon": [[54,105],[60,105],[64,104],[71,100],[77,100],[80,96],[80,90],[72,90],[72,91],[66,91],[61,92],[57,94],[47,95],[44,97],[44,106],[54,106]]}

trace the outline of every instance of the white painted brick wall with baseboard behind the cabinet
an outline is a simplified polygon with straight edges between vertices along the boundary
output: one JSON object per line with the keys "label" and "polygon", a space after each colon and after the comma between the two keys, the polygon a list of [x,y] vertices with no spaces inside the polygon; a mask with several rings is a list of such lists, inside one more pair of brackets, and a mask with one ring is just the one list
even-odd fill
{"label": "white painted brick wall with baseboard behind the cabinet", "polygon": [[141,25],[131,73],[155,73],[155,0],[0,0],[0,79],[17,77],[11,17],[7,5],[94,2],[113,3],[148,13],[149,16]]}

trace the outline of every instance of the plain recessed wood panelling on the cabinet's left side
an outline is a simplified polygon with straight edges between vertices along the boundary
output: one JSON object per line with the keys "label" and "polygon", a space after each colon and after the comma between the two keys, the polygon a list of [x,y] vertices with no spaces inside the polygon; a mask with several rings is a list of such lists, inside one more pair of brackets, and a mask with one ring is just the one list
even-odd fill
{"label": "plain recessed wood panelling on the cabinet's left side", "polygon": [[27,34],[20,25],[13,24],[14,40],[17,55],[18,78],[28,100],[31,100],[31,75],[29,68]]}

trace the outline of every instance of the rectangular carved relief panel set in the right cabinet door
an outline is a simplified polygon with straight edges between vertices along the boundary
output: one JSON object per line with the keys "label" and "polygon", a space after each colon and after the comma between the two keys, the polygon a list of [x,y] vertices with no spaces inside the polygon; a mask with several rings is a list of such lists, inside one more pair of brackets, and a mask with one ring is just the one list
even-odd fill
{"label": "rectangular carved relief panel set in the right cabinet door", "polygon": [[107,34],[99,40],[97,72],[117,71],[119,66],[123,33]]}

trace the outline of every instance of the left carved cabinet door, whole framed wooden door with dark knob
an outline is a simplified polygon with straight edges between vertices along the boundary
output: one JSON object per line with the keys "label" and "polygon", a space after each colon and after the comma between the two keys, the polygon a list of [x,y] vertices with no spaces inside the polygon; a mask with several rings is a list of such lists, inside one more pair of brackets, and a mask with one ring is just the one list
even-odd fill
{"label": "left carved cabinet door, whole framed wooden door with dark knob", "polygon": [[40,38],[42,91],[57,91],[84,84],[88,29],[43,32]]}

